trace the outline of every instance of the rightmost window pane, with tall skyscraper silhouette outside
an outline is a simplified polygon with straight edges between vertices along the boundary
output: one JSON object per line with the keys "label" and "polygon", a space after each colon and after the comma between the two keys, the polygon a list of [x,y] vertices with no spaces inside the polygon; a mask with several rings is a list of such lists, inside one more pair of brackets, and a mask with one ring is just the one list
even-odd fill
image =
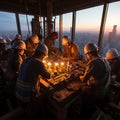
{"label": "rightmost window pane, with tall skyscraper silhouette outside", "polygon": [[109,48],[120,51],[120,2],[109,4],[105,32],[103,38],[103,55]]}

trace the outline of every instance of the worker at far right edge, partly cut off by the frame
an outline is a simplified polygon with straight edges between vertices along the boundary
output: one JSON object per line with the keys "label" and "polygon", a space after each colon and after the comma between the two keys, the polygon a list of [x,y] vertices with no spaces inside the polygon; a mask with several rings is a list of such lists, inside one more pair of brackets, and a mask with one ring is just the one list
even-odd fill
{"label": "worker at far right edge, partly cut off by the frame", "polygon": [[117,81],[120,83],[120,54],[116,48],[111,48],[106,52],[105,57],[111,67],[112,81]]}

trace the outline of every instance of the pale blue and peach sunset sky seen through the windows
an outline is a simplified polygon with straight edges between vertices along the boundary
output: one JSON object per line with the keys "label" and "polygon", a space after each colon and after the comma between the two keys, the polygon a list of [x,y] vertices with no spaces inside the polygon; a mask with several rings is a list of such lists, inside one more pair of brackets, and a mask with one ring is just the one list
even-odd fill
{"label": "pale blue and peach sunset sky seen through the windows", "polygon": [[[76,13],[76,30],[80,31],[99,31],[103,6],[93,7],[77,11]],[[32,16],[28,17],[29,23]],[[59,28],[59,17],[56,17],[56,27]],[[26,15],[20,15],[21,29],[27,30]],[[63,15],[64,30],[70,30],[72,25],[72,13]],[[108,16],[106,21],[106,31],[110,31],[113,25],[117,25],[117,31],[120,32],[120,1],[109,5]],[[0,12],[0,31],[17,30],[14,13]]]}

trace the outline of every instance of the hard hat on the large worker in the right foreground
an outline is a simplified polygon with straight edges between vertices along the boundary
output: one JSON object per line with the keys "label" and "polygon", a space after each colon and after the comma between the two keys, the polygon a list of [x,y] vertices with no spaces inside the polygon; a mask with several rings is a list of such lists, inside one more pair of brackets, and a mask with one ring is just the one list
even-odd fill
{"label": "hard hat on the large worker in the right foreground", "polygon": [[85,45],[84,47],[84,53],[87,54],[89,52],[93,52],[93,51],[98,51],[98,47],[96,44],[94,43],[88,43]]}

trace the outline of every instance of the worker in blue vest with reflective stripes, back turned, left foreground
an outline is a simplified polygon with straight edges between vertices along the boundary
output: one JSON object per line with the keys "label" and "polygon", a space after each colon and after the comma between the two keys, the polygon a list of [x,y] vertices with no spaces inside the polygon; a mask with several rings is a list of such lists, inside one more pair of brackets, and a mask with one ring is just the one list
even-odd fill
{"label": "worker in blue vest with reflective stripes, back turned, left foreground", "polygon": [[[34,55],[31,58],[27,58],[21,65],[17,84],[16,84],[16,96],[18,101],[26,107],[29,111],[28,117],[32,119],[42,119],[45,115],[45,100],[44,94],[40,89],[40,94],[36,90],[36,85],[39,83],[39,78],[50,78],[50,74],[44,67],[42,60],[48,55],[48,48],[44,44],[39,44]],[[26,114],[27,114],[26,113]],[[43,116],[42,116],[43,115]]]}

